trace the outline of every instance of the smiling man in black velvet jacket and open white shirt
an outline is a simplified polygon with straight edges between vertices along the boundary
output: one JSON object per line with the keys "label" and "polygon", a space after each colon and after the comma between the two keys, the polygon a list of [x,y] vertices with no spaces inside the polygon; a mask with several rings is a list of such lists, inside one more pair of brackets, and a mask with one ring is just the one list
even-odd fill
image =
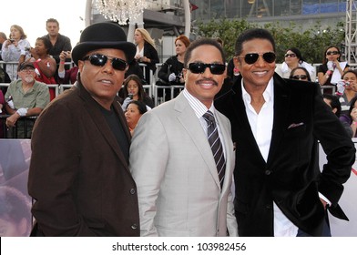
{"label": "smiling man in black velvet jacket and open white shirt", "polygon": [[[254,28],[236,42],[240,77],[215,107],[230,118],[236,144],[235,212],[240,236],[329,236],[326,209],[338,206],[355,148],[314,83],[285,80],[275,43]],[[328,162],[319,168],[318,140]]]}

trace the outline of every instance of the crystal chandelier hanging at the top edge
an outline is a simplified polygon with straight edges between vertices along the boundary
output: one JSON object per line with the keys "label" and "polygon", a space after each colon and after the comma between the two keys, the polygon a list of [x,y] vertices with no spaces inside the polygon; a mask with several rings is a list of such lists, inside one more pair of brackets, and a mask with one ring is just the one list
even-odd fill
{"label": "crystal chandelier hanging at the top edge", "polygon": [[97,10],[105,18],[126,25],[128,19],[135,19],[144,12],[145,0],[97,0]]}

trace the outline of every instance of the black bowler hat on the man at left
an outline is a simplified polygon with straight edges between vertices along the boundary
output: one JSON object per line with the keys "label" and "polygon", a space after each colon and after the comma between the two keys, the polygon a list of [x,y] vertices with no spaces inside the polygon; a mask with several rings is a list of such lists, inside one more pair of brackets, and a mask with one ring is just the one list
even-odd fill
{"label": "black bowler hat on the man at left", "polygon": [[104,22],[87,26],[83,30],[79,43],[72,50],[72,59],[78,66],[78,60],[82,60],[89,51],[98,48],[121,49],[127,56],[128,63],[137,53],[137,47],[127,41],[127,36],[120,26]]}

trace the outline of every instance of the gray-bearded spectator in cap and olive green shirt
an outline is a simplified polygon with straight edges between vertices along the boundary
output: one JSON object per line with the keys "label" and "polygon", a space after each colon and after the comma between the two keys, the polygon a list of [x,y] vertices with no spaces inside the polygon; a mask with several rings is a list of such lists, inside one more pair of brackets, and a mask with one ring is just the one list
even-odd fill
{"label": "gray-bearded spectator in cap and olive green shirt", "polygon": [[10,116],[6,118],[9,129],[8,138],[31,138],[35,118],[49,103],[49,92],[46,84],[36,81],[35,66],[24,62],[17,67],[15,81],[11,82],[5,93],[5,111]]}

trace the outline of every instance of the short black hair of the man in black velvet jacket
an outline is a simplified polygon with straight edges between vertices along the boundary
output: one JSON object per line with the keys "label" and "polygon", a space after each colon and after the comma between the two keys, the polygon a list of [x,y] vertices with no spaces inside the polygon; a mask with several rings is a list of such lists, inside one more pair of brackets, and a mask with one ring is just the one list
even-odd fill
{"label": "short black hair of the man in black velvet jacket", "polygon": [[275,52],[275,41],[268,30],[262,28],[250,28],[238,36],[235,46],[235,56],[240,56],[243,43],[253,39],[266,39],[270,41],[273,51]]}

